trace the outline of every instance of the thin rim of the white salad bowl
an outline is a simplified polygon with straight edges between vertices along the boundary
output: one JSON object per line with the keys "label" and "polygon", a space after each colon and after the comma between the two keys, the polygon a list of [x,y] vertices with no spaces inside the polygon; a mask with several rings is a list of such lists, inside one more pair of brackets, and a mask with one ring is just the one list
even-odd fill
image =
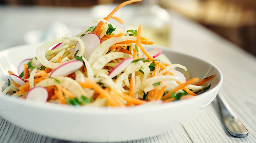
{"label": "thin rim of the white salad bowl", "polygon": [[[28,48],[30,46],[38,46],[38,44],[25,44],[25,45],[19,45],[19,46],[15,46],[15,47],[11,47],[5,50],[0,51],[0,53],[2,52],[8,52],[9,50],[14,50],[14,49],[19,49],[19,48]],[[204,96],[207,95],[207,92],[210,92],[212,90],[216,90],[216,88],[220,88],[223,84],[223,74],[220,71],[220,69],[215,66],[212,62],[200,57],[200,56],[196,56],[194,54],[191,53],[187,53],[187,52],[183,52],[183,51],[179,51],[177,49],[172,49],[172,48],[166,48],[163,46],[157,46],[160,47],[162,50],[164,51],[169,51],[169,52],[174,52],[174,53],[179,53],[182,55],[186,55],[186,56],[191,56],[193,58],[202,60],[204,62],[206,62],[207,64],[211,65],[212,67],[214,67],[214,69],[216,69],[220,75],[220,79],[219,82],[215,85],[215,87],[211,88],[210,90],[199,94],[193,98],[188,98],[188,99],[184,99],[184,100],[179,100],[179,101],[175,101],[175,102],[171,102],[171,103],[157,103],[157,101],[155,101],[155,103],[153,102],[149,102],[148,104],[150,105],[137,105],[137,106],[132,106],[132,107],[96,107],[96,106],[73,106],[73,105],[62,105],[62,104],[56,104],[56,103],[37,103],[37,102],[32,102],[32,101],[26,101],[26,100],[21,100],[21,99],[11,99],[10,97],[7,97],[5,95],[3,95],[2,93],[0,94],[0,100],[8,100],[9,102],[12,102],[14,104],[20,104],[20,105],[24,105],[24,106],[29,106],[30,108],[37,108],[37,109],[42,109],[42,110],[51,110],[51,111],[59,111],[59,112],[72,112],[72,113],[79,113],[79,114],[88,114],[88,113],[93,113],[93,114],[127,114],[127,113],[141,113],[141,112],[152,112],[152,111],[158,111],[158,110],[162,110],[164,108],[171,108],[171,107],[175,107],[175,106],[182,106],[183,104],[187,104],[189,102],[194,102],[199,100],[199,98],[202,98]],[[153,46],[145,46],[145,48],[156,48],[156,45]],[[2,96],[3,95],[3,96]],[[151,104],[152,103],[152,104]]]}

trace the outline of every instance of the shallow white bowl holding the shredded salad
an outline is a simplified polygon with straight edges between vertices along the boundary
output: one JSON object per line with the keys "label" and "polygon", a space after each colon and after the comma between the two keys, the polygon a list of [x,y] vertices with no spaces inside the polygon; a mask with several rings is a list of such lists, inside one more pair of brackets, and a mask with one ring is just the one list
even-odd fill
{"label": "shallow white bowl holding the shredded salad", "polygon": [[[0,52],[0,80],[7,81],[23,59],[35,56],[38,45],[23,45]],[[212,63],[168,48],[163,53],[173,63],[187,67],[192,77],[217,74],[211,89],[190,99],[152,103],[128,108],[100,108],[32,103],[0,95],[0,116],[27,130],[53,138],[117,142],[160,135],[198,116],[216,97],[222,83],[221,71]]]}

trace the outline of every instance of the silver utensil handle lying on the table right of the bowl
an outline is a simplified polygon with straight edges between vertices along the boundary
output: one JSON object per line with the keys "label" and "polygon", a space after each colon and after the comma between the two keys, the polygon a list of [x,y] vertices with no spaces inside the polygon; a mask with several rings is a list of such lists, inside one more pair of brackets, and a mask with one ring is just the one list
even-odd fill
{"label": "silver utensil handle lying on the table right of the bowl", "polygon": [[245,126],[231,110],[230,106],[220,92],[217,95],[217,102],[220,108],[222,122],[228,133],[237,137],[247,136],[249,133],[246,130]]}

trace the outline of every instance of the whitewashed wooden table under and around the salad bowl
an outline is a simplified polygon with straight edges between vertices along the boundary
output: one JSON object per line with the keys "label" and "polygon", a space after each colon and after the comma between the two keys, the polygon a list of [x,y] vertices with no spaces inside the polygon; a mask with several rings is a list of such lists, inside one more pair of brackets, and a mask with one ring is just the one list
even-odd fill
{"label": "whitewashed wooden table under and around the salad bowl", "polygon": [[[52,21],[70,27],[86,28],[94,20],[89,9],[0,7],[0,50],[25,44],[27,31],[45,28]],[[225,130],[216,101],[195,119],[172,132],[129,142],[256,142],[256,58],[202,26],[169,11],[171,16],[171,48],[201,56],[223,72],[221,88],[224,98],[249,131],[246,137],[233,137]],[[67,20],[74,16],[76,21]],[[1,109],[0,109],[1,110]],[[0,115],[0,142],[70,142],[50,138],[17,127]]]}

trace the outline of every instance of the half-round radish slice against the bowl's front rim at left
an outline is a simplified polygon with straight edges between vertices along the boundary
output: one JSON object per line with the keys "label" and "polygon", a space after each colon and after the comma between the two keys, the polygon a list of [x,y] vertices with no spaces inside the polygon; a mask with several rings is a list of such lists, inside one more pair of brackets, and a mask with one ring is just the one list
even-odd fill
{"label": "half-round radish slice against the bowl's front rim at left", "polygon": [[44,87],[33,87],[29,90],[26,100],[47,102],[48,91]]}

